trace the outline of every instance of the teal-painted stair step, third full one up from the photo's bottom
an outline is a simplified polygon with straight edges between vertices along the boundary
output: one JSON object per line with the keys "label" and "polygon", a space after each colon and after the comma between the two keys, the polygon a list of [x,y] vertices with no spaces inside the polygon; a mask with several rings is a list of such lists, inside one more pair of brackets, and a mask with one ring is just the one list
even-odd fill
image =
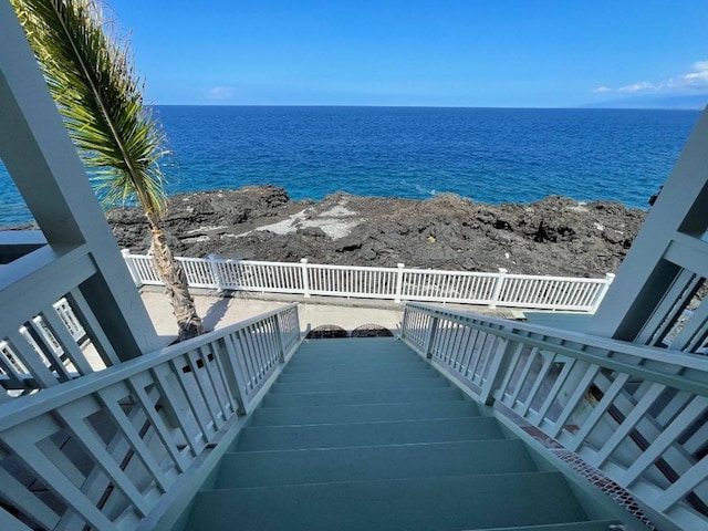
{"label": "teal-painted stair step, third full one up from the photo's bottom", "polygon": [[310,426],[249,426],[239,434],[235,449],[239,451],[294,450],[501,438],[503,437],[497,420],[490,417]]}

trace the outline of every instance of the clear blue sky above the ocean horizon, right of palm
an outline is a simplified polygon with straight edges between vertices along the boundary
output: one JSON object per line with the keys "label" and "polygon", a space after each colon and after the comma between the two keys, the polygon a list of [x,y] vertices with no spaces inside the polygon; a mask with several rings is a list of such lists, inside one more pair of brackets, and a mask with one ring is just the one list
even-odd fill
{"label": "clear blue sky above the ocean horizon, right of palm", "polygon": [[708,103],[706,0],[108,3],[155,104]]}

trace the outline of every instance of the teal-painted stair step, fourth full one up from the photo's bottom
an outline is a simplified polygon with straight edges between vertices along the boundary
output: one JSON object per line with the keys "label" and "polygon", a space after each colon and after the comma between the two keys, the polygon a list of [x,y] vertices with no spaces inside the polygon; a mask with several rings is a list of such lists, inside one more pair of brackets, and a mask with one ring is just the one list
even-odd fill
{"label": "teal-painted stair step, fourth full one up from the photo's bottom", "polygon": [[251,426],[373,423],[476,416],[479,416],[479,409],[470,400],[356,404],[329,407],[259,407],[253,412]]}

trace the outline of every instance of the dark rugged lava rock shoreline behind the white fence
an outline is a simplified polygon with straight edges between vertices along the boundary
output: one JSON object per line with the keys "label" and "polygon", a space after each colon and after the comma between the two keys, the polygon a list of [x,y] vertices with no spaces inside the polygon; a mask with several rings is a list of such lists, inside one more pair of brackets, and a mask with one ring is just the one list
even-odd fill
{"label": "dark rugged lava rock shoreline behind the white fence", "polygon": [[[185,257],[602,277],[616,271],[645,217],[620,202],[558,196],[525,205],[451,194],[295,201],[282,188],[251,186],[174,196],[164,227]],[[122,248],[148,250],[138,208],[106,218]]]}

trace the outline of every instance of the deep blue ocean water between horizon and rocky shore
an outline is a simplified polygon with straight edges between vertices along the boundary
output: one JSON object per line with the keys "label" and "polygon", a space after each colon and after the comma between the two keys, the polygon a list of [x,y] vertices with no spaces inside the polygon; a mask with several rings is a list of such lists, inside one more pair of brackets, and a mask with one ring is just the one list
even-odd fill
{"label": "deep blue ocean water between horizon and rocky shore", "polygon": [[[528,202],[555,194],[646,208],[697,111],[157,106],[168,194],[272,184]],[[0,165],[0,225],[31,219]]]}

